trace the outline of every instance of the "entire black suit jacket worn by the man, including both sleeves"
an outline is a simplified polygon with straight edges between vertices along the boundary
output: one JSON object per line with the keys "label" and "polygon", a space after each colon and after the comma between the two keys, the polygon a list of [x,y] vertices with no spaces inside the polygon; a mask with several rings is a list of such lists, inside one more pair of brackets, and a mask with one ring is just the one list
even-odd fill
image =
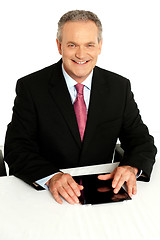
{"label": "entire black suit jacket worn by the man, including both sleeves", "polygon": [[125,151],[121,165],[142,169],[149,180],[156,148],[129,80],[94,68],[81,142],[61,65],[60,60],[17,83],[5,141],[10,173],[32,184],[62,168],[109,163],[119,138]]}

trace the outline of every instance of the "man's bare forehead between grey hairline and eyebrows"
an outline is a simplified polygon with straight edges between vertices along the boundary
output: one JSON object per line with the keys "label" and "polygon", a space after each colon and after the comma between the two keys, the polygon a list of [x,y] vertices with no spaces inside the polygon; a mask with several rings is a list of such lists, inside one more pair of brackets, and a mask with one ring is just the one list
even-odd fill
{"label": "man's bare forehead between grey hairline and eyebrows", "polygon": [[97,41],[98,28],[93,21],[66,22],[62,30],[62,41]]}

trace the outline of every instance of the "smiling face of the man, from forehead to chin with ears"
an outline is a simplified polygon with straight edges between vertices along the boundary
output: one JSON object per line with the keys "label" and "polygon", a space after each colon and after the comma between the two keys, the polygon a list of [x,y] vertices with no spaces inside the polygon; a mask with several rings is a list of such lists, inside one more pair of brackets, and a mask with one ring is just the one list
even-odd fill
{"label": "smiling face of the man, from forehead to chin with ears", "polygon": [[57,46],[65,71],[81,83],[95,67],[102,41],[98,42],[98,28],[93,21],[67,22]]}

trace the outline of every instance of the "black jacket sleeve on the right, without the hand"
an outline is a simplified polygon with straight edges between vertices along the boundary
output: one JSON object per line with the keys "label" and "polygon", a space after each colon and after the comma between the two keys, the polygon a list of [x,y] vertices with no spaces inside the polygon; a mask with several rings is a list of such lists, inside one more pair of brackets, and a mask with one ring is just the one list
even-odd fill
{"label": "black jacket sleeve on the right, without the hand", "polygon": [[129,165],[143,171],[145,181],[149,181],[155,155],[154,139],[150,136],[147,126],[143,123],[128,81],[126,105],[120,133],[121,147],[124,157],[121,165]]}

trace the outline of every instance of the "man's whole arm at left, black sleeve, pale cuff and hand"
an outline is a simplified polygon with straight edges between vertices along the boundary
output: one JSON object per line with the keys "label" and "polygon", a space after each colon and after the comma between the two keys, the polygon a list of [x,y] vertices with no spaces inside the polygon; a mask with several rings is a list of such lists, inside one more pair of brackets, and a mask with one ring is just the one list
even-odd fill
{"label": "man's whole arm at left, black sleeve, pale cuff and hand", "polygon": [[13,117],[5,140],[5,161],[9,165],[10,174],[21,178],[37,190],[47,184],[46,188],[49,188],[58,203],[62,203],[60,195],[71,204],[78,203],[83,187],[69,174],[60,173],[54,166],[54,159],[49,162],[42,154],[36,104],[29,87],[20,80],[16,93]]}

